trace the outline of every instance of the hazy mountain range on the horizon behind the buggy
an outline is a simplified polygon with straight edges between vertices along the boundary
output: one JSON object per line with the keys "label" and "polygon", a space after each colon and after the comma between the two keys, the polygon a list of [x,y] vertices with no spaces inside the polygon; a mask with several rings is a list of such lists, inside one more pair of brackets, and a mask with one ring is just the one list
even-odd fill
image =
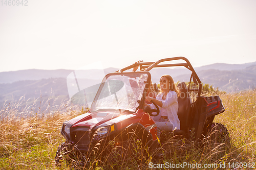
{"label": "hazy mountain range on the horizon behind the buggy", "polygon": [[[106,68],[104,70],[40,70],[28,69],[18,71],[0,72],[0,107],[5,101],[17,101],[20,96],[33,102],[37,98],[48,99],[60,98],[69,99],[71,93],[71,84],[84,88],[82,83],[90,82],[90,86],[100,83],[103,76],[114,72],[118,68]],[[245,64],[225,64],[215,63],[201,67],[195,67],[195,70],[204,84],[213,85],[215,88],[227,92],[236,92],[246,89],[256,88],[256,62]],[[188,82],[190,71],[186,68],[157,68],[151,70],[152,82],[159,83],[162,75],[171,75],[175,81]],[[80,79],[75,82],[74,76]],[[68,78],[68,79],[67,79]],[[69,79],[71,78],[71,79]],[[71,80],[71,84],[67,84]],[[68,81],[69,83],[69,81]],[[75,89],[76,91],[77,89]]]}

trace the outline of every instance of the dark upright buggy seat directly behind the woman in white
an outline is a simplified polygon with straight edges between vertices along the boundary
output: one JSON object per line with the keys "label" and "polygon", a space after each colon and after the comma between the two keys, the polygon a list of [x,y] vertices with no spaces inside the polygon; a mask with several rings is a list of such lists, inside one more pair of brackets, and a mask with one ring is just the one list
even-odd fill
{"label": "dark upright buggy seat directly behind the woman in white", "polygon": [[187,86],[184,82],[180,82],[177,85],[177,88],[180,90],[180,96],[178,98],[178,117],[180,120],[180,130],[175,130],[174,135],[181,135],[182,137],[188,132],[189,126],[189,111],[191,107],[191,98],[187,90]]}

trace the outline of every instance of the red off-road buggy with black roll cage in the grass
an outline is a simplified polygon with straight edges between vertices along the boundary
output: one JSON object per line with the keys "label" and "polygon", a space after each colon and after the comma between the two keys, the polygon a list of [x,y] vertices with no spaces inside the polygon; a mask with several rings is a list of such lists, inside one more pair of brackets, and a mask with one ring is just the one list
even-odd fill
{"label": "red off-road buggy with black roll cage in the grass", "polygon": [[[169,63],[176,60],[183,62]],[[139,71],[127,71],[137,66]],[[174,66],[187,68],[191,76],[188,86],[184,82],[178,84],[181,92],[178,98],[181,129],[173,133],[192,140],[205,136],[215,115],[225,109],[219,96],[201,96],[202,84],[190,62],[184,57],[139,62],[106,75],[90,111],[63,123],[61,134],[66,142],[57,150],[56,163],[65,154],[79,155],[78,159],[87,162],[92,153],[95,154],[95,148],[104,148],[110,141],[127,147],[131,137],[136,137],[152,151],[158,143],[156,123],[152,117],[159,114],[159,108],[154,103],[156,110],[145,110],[143,106],[151,81],[149,71],[156,67]],[[165,74],[168,75],[168,72]],[[191,92],[196,94],[193,102]],[[105,151],[108,150],[106,148]]]}

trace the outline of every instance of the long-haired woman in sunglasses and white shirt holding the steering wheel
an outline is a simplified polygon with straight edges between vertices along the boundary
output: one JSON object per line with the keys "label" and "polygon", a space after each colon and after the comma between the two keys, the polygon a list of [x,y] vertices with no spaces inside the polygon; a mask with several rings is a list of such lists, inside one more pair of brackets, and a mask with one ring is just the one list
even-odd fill
{"label": "long-haired woman in sunglasses and white shirt holding the steering wheel", "polygon": [[[160,138],[162,131],[173,131],[180,129],[180,120],[178,117],[178,96],[179,91],[176,88],[174,80],[169,75],[163,75],[160,79],[160,92],[156,99],[147,96],[146,101],[155,102],[160,109],[160,118],[156,120],[157,124],[157,136]],[[155,109],[153,104],[144,104],[144,106]]]}

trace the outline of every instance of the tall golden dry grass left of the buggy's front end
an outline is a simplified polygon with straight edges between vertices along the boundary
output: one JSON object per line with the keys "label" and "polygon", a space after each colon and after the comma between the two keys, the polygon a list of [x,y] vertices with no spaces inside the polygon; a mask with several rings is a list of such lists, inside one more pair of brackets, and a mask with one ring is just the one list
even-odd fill
{"label": "tall golden dry grass left of the buggy's front end", "polygon": [[60,127],[82,112],[69,101],[49,108],[50,101],[27,105],[23,96],[5,103],[0,111],[0,169],[55,167],[56,149],[63,141]]}

